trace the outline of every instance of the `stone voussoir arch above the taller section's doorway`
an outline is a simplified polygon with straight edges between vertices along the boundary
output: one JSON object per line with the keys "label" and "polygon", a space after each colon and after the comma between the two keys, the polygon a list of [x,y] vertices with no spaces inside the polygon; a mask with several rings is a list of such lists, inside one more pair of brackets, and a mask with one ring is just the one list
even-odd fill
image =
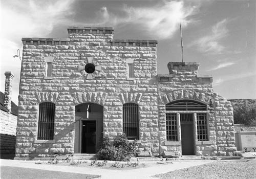
{"label": "stone voussoir arch above the taller section's doorway", "polygon": [[107,93],[104,92],[88,92],[88,93],[73,93],[72,98],[74,104],[92,102],[100,105],[104,105]]}

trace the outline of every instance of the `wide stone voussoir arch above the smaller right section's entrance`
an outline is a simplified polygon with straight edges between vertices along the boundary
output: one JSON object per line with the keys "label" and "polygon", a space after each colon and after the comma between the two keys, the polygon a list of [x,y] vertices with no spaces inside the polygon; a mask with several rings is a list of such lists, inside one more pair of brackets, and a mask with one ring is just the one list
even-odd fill
{"label": "wide stone voussoir arch above the smaller right section's entrance", "polygon": [[212,98],[213,98],[213,94],[210,94],[210,93],[203,93],[203,92],[183,89],[183,90],[178,90],[172,93],[161,95],[159,102],[161,104],[167,104],[175,100],[191,99],[191,100],[201,101],[203,103],[209,104],[210,99]]}

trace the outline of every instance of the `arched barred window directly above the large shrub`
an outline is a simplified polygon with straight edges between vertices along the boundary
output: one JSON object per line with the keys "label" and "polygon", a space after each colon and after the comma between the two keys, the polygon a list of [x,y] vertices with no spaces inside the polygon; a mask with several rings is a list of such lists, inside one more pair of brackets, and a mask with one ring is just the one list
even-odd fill
{"label": "arched barred window directly above the large shrub", "polygon": [[139,140],[139,106],[123,104],[123,132],[129,140]]}

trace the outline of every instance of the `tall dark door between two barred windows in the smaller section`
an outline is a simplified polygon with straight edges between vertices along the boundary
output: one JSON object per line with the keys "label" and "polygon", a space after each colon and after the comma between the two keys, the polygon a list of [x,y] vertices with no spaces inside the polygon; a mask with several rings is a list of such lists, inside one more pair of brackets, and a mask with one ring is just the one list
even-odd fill
{"label": "tall dark door between two barred windows in the smaller section", "polygon": [[193,114],[180,114],[182,155],[195,155]]}

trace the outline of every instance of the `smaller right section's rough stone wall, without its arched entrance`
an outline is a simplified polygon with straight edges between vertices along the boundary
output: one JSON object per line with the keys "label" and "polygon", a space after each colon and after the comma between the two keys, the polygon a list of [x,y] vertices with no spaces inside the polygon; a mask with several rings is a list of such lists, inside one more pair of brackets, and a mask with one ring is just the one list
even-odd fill
{"label": "smaller right section's rough stone wall, without its arched entrance", "polygon": [[211,84],[212,78],[208,75],[199,76],[198,67],[199,63],[169,62],[170,74],[158,75],[161,151],[181,152],[180,144],[166,146],[164,142],[166,141],[165,105],[182,99],[200,101],[208,106],[208,141],[196,141],[197,155],[216,155],[217,151],[235,150],[232,107],[229,101],[216,97]]}

